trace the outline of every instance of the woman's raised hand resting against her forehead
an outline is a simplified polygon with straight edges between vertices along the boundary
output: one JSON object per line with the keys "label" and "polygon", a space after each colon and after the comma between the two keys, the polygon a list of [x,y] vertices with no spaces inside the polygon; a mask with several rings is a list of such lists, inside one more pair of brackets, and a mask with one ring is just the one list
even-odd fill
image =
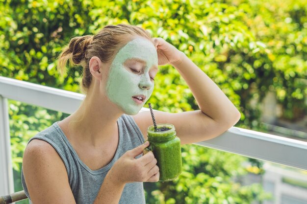
{"label": "woman's raised hand resting against her forehead", "polygon": [[151,40],[158,53],[158,65],[180,63],[183,52],[166,42],[163,38],[152,38]]}

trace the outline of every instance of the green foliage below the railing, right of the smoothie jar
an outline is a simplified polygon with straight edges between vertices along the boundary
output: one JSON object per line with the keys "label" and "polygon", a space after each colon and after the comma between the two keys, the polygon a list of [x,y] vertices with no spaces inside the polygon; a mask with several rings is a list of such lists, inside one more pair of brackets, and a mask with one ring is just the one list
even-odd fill
{"label": "green foliage below the railing, right of the smoothie jar", "polygon": [[[262,201],[269,195],[259,184],[242,186],[238,181],[247,174],[244,157],[196,145],[182,147],[183,172],[179,179],[157,183],[159,190],[145,183],[149,204],[245,204]],[[236,178],[236,179],[235,179]]]}

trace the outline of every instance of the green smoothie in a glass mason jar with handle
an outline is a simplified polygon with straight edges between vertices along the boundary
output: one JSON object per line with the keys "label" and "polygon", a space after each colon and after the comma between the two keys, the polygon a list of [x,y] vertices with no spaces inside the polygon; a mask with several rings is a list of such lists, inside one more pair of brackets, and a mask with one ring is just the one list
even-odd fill
{"label": "green smoothie in a glass mason jar with handle", "polygon": [[172,124],[157,124],[147,130],[150,149],[153,151],[157,166],[159,167],[159,181],[172,181],[182,171],[180,139],[176,136],[175,127]]}

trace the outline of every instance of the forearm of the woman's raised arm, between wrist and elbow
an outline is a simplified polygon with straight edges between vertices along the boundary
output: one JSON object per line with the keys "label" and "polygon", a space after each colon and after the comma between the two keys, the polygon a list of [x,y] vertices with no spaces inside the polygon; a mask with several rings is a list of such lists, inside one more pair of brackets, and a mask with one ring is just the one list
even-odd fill
{"label": "forearm of the woman's raised arm, between wrist and elbow", "polygon": [[240,113],[223,91],[184,53],[172,65],[179,71],[202,112],[218,123],[233,125]]}

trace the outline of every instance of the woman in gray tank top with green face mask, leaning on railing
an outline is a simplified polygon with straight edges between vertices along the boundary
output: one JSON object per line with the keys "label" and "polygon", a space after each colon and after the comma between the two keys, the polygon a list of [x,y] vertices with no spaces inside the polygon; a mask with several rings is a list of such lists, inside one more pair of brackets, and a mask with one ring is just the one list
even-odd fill
{"label": "woman in gray tank top with green face mask, leaning on railing", "polygon": [[[33,204],[145,204],[143,183],[159,179],[149,145],[151,114],[139,113],[150,98],[158,65],[175,67],[201,110],[154,111],[176,127],[181,144],[219,136],[240,113],[218,86],[183,52],[133,25],[108,25],[94,36],[73,38],[61,53],[83,67],[79,109],[29,141],[22,180]],[[143,144],[144,143],[144,144]]]}

